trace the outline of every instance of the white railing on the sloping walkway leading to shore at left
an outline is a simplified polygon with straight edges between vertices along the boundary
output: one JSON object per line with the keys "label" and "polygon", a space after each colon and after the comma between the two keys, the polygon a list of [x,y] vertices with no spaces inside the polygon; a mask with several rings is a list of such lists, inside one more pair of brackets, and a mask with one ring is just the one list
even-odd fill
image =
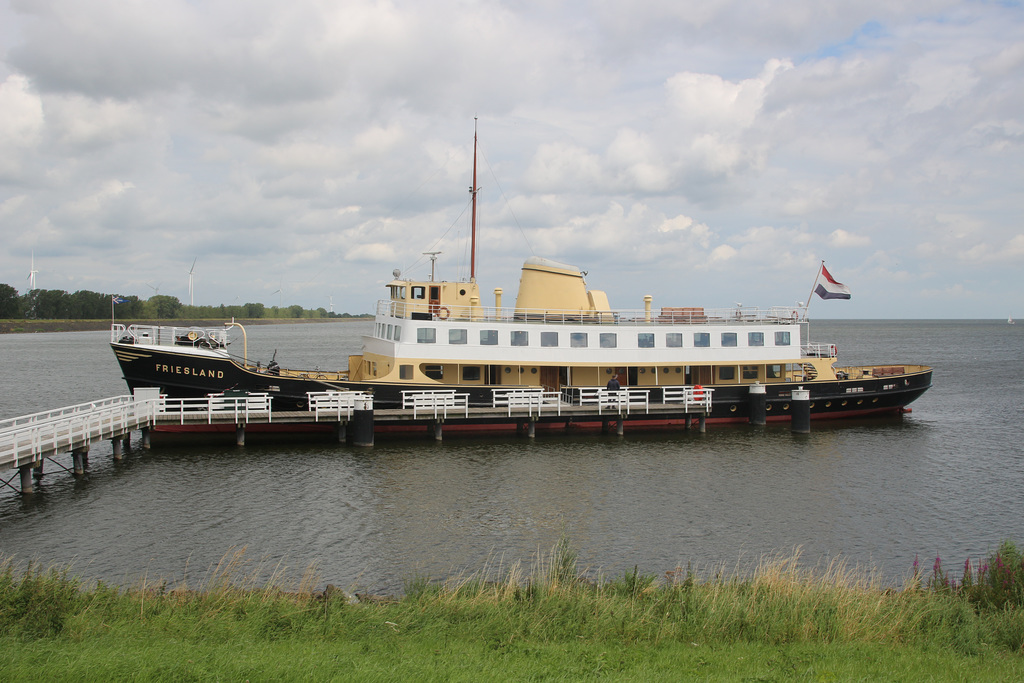
{"label": "white railing on the sloping walkway leading to shore at left", "polygon": [[[110,438],[140,426],[148,425],[156,415],[157,403],[152,400],[121,400],[124,396],[95,401],[91,410],[80,409],[91,403],[80,403],[46,414],[54,417],[35,422],[18,422],[0,431],[0,469],[18,467],[34,462],[41,454],[66,452],[88,445],[92,441]],[[7,420],[6,423],[26,418]]]}

